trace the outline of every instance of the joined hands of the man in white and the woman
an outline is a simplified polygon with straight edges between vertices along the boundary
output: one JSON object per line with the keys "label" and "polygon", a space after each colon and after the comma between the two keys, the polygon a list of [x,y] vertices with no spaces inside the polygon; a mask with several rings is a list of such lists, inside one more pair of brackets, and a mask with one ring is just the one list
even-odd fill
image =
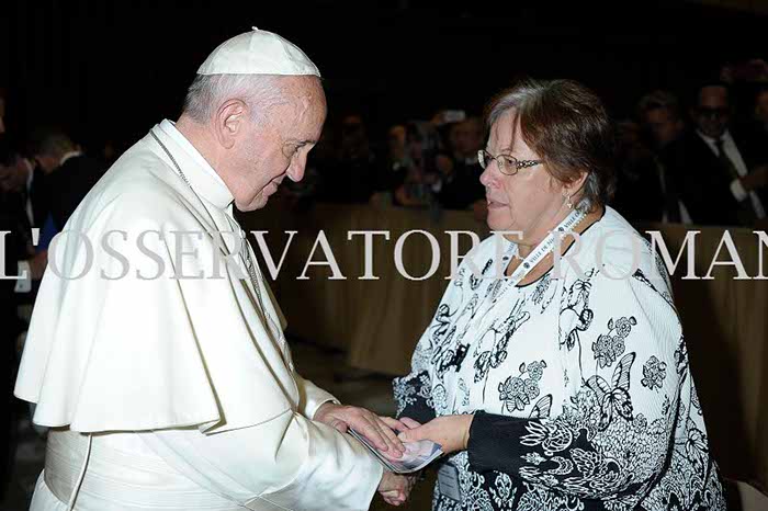
{"label": "joined hands of the man in white and the woman", "polygon": [[[421,425],[407,417],[397,420],[380,417],[364,408],[325,402],[317,409],[314,419],[342,433],[352,428],[385,455],[397,459],[405,452],[403,442],[431,440],[442,445],[445,454],[466,448],[473,416],[438,417]],[[415,481],[414,475],[385,472],[379,492],[388,504],[400,506],[408,500]]]}

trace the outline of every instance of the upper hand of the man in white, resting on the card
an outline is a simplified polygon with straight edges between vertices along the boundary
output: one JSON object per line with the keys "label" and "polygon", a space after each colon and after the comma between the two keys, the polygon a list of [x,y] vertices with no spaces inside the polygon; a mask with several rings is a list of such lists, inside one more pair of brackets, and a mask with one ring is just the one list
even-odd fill
{"label": "upper hand of the man in white, resting on the card", "polygon": [[408,428],[396,419],[379,417],[365,408],[325,402],[317,409],[314,420],[336,428],[342,433],[352,428],[371,441],[376,448],[395,458],[405,452],[403,442],[397,440],[397,435],[392,430],[406,431]]}

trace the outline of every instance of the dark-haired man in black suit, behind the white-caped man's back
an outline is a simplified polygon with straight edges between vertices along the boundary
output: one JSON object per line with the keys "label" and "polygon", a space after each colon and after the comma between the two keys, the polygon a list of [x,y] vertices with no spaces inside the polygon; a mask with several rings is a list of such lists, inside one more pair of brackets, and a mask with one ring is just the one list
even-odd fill
{"label": "dark-haired man in black suit, behind the white-caped man's back", "polygon": [[103,175],[104,166],[84,155],[59,129],[39,129],[31,138],[32,157],[46,175],[54,226],[61,230],[80,201]]}

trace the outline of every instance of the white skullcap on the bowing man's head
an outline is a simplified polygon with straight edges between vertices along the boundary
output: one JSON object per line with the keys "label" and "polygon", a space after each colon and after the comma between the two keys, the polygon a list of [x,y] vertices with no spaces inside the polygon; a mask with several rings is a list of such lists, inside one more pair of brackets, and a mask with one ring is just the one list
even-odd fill
{"label": "white skullcap on the bowing man's head", "polygon": [[312,75],[317,66],[290,41],[253,27],[225,41],[205,59],[197,75]]}

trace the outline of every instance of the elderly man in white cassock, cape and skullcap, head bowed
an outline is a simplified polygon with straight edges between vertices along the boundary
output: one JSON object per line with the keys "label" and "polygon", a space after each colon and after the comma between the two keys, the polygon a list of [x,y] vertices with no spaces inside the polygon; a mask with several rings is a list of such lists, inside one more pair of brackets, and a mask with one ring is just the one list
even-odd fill
{"label": "elderly man in white cassock, cape and skullcap, head bowed", "polygon": [[217,47],[180,118],[117,160],[49,248],[15,395],[52,428],[32,510],[363,510],[408,481],[404,425],[302,378],[233,207],[300,181],[319,71],[260,30]]}

